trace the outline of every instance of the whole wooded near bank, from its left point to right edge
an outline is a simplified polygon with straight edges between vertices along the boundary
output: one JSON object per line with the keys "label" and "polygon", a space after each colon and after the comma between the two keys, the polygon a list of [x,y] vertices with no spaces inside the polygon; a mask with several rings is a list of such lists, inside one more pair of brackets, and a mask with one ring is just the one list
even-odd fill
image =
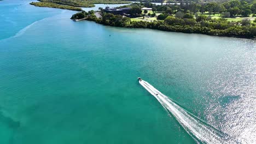
{"label": "whole wooded near bank, from its left point to right edge", "polygon": [[[90,12],[90,11],[89,11]],[[77,13],[71,17],[71,19],[83,19],[95,21],[102,25],[113,26],[113,27],[127,27],[127,28],[149,28],[158,29],[160,31],[168,32],[182,32],[182,33],[198,33],[206,35],[214,35],[221,37],[235,37],[235,38],[256,38],[256,27],[255,26],[240,26],[231,25],[229,22],[195,22],[193,25],[184,23],[183,19],[177,19],[172,16],[168,16],[164,21],[131,21],[129,17],[123,17],[121,15],[113,15],[109,13],[102,14],[102,17],[96,17],[94,13]],[[183,21],[182,21],[183,20]],[[173,23],[172,21],[176,21]],[[177,21],[179,23],[177,23]],[[182,22],[181,22],[182,21]],[[208,27],[207,27],[207,25]],[[190,24],[190,23],[189,23]],[[224,27],[223,29],[217,29],[218,27]]]}

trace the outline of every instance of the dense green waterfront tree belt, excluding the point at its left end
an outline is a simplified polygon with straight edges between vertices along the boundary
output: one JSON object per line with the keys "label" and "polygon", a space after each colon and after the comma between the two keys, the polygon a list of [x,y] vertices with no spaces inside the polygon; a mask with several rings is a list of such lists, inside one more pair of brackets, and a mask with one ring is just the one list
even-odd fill
{"label": "dense green waterfront tree belt, excluding the point at its left end", "polygon": [[164,21],[131,21],[129,17],[120,15],[103,14],[101,19],[94,19],[97,23],[117,27],[151,28],[161,31],[201,33],[208,35],[219,35],[241,38],[255,38],[256,27],[250,26],[249,20],[243,22],[242,26],[227,22],[225,19],[207,19],[205,16],[198,16],[196,19],[180,19],[174,16],[167,16]]}

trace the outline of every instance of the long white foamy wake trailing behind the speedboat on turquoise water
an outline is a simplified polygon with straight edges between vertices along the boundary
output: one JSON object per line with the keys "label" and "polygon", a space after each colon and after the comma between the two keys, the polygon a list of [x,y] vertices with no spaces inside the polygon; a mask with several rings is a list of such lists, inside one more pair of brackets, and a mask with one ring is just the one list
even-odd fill
{"label": "long white foamy wake trailing behind the speedboat on turquoise water", "polygon": [[206,143],[238,143],[237,141],[232,140],[230,136],[208,126],[200,119],[197,119],[195,116],[185,111],[147,81],[142,80],[139,81],[139,83],[147,89],[147,91],[151,93],[166,110],[172,113],[189,135],[195,136],[193,137],[194,139]]}

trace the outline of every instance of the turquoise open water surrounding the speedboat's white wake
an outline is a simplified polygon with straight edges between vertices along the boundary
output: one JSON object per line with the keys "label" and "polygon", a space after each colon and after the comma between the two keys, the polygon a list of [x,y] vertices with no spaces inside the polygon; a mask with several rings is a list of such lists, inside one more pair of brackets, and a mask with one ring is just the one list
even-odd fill
{"label": "turquoise open water surrounding the speedboat's white wake", "polygon": [[196,143],[138,76],[256,141],[254,40],[73,22],[29,2],[0,2],[0,143]]}

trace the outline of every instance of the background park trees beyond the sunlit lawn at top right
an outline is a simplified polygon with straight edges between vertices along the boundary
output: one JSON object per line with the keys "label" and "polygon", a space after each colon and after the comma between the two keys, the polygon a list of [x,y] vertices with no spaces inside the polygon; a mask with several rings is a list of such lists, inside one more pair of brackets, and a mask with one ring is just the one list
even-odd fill
{"label": "background park trees beyond the sunlit lawn at top right", "polygon": [[150,3],[145,4],[146,7],[153,8],[155,12],[163,12],[166,10],[172,10],[174,13],[182,11],[184,13],[224,13],[227,12],[230,16],[240,15],[247,17],[250,14],[256,14],[256,1],[255,0],[231,0],[222,2],[193,2],[193,1],[180,1],[180,5],[167,4],[167,5],[154,5]]}

